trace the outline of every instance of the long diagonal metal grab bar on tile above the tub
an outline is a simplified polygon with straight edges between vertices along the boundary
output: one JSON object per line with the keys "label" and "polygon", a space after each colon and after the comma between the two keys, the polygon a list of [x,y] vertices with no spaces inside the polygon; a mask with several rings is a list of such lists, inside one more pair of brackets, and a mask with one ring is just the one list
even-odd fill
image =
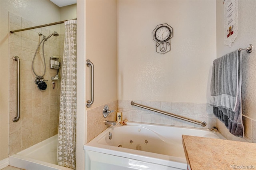
{"label": "long diagonal metal grab bar on tile above the tub", "polygon": [[175,114],[173,114],[173,113],[168,113],[168,112],[165,112],[165,111],[160,111],[160,110],[154,109],[154,108],[152,108],[152,107],[147,107],[147,106],[144,106],[144,105],[136,104],[135,101],[131,101],[131,105],[137,106],[137,107],[141,107],[141,108],[144,108],[144,109],[148,109],[148,110],[150,110],[150,111],[162,113],[162,114],[164,114],[164,115],[168,115],[168,116],[171,116],[171,117],[175,117],[175,118],[181,119],[181,120],[183,120],[183,121],[187,121],[187,122],[190,122],[190,123],[194,123],[194,124],[197,124],[197,125],[201,125],[202,127],[205,127],[205,126],[206,126],[206,122],[205,122],[205,121],[199,122],[199,121],[196,121],[196,120],[193,120],[193,119],[189,119],[189,118],[186,118],[186,117],[183,117],[183,116],[175,115]]}

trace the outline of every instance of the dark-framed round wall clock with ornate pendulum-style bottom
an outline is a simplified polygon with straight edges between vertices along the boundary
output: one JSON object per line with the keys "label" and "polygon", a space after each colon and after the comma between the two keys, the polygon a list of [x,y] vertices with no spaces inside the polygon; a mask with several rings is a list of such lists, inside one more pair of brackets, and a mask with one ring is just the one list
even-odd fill
{"label": "dark-framed round wall clock with ornate pendulum-style bottom", "polygon": [[153,31],[153,40],[156,42],[156,52],[167,53],[171,50],[173,28],[168,24],[160,24]]}

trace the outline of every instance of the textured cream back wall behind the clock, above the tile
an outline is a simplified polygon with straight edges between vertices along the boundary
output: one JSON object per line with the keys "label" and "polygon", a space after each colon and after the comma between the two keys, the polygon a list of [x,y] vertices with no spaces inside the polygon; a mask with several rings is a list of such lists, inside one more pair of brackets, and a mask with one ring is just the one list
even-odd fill
{"label": "textured cream back wall behind the clock, above the tile", "polygon": [[[118,99],[209,103],[216,59],[215,1],[118,1]],[[152,31],[173,28],[171,51]]]}

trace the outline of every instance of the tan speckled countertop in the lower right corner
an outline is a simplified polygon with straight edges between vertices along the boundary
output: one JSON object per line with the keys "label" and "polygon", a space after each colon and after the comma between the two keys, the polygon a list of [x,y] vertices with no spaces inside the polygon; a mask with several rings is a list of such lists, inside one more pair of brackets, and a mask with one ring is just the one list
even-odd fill
{"label": "tan speckled countertop in the lower right corner", "polygon": [[256,169],[256,144],[182,135],[189,170]]}

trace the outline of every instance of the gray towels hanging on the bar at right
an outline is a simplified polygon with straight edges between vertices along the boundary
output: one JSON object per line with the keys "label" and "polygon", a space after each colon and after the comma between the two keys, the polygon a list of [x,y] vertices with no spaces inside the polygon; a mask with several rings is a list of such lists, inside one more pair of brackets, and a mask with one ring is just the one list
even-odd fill
{"label": "gray towels hanging on the bar at right", "polygon": [[242,122],[242,57],[233,51],[213,61],[210,105],[235,136],[244,137]]}

